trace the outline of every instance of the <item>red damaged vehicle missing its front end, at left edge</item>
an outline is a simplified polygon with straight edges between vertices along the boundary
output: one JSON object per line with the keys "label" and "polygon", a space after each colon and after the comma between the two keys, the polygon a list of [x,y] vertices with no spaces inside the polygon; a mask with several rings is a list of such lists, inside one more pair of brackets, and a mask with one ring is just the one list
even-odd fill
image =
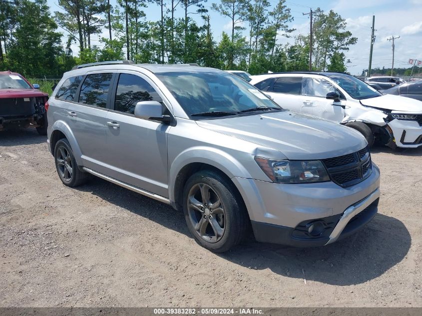
{"label": "red damaged vehicle missing its front end, at left edge", "polygon": [[40,135],[47,134],[48,94],[37,89],[18,73],[0,71],[0,131],[36,127]]}

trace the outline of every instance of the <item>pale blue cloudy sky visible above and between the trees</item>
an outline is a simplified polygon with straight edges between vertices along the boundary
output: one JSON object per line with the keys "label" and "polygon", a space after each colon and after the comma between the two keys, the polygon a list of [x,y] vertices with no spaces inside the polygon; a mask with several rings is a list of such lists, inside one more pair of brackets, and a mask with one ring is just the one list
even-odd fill
{"label": "pale blue cloudy sky visible above and between the trees", "polygon": [[[58,0],[47,0],[50,10],[60,10]],[[278,0],[269,0],[272,5],[276,5]],[[110,1],[115,6],[116,1]],[[204,3],[209,10],[210,22],[214,35],[214,40],[221,39],[223,31],[231,31],[231,21],[228,17],[221,16],[211,9],[211,3],[219,3],[219,0],[208,0]],[[348,71],[355,75],[360,75],[363,69],[369,65],[370,38],[372,16],[375,15],[375,35],[372,68],[383,66],[386,68],[392,65],[392,43],[387,40],[391,36],[400,36],[395,40],[395,67],[410,67],[409,59],[422,60],[422,0],[287,0],[286,5],[290,7],[294,21],[291,27],[296,30],[292,35],[309,34],[309,12],[310,8],[320,7],[328,12],[333,9],[339,13],[347,22],[347,30],[358,38],[356,45],[346,51],[346,58],[351,63],[347,64]],[[160,19],[159,6],[149,3],[144,9],[149,20]],[[183,15],[180,7],[176,11],[177,16]],[[198,23],[202,23],[199,14],[191,15]],[[246,25],[245,25],[246,26]],[[63,29],[63,42],[68,35]],[[245,32],[246,35],[246,32]],[[102,46],[99,39],[108,37],[108,30],[104,29],[102,34],[93,35],[91,43]],[[278,37],[278,43],[293,43],[293,38]],[[72,45],[73,53],[78,52],[76,44]]]}

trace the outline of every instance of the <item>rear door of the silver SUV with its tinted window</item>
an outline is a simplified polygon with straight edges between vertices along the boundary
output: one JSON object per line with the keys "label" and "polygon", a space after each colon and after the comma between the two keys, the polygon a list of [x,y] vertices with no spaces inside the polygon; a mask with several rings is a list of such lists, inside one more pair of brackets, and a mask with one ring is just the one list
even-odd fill
{"label": "rear door of the silver SUV with its tinted window", "polygon": [[82,152],[83,165],[104,173],[105,116],[115,73],[88,72],[79,88],[77,102],[69,103],[67,122]]}

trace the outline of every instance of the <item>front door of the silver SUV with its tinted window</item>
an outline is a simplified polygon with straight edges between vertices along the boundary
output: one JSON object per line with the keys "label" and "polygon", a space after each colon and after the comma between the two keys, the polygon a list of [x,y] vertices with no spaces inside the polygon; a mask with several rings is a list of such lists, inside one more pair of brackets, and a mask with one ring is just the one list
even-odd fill
{"label": "front door of the silver SUV with its tinted window", "polygon": [[[130,71],[120,71],[117,75],[116,92],[105,119],[107,175],[168,197],[167,132],[170,126],[134,116],[137,102],[162,102],[162,98],[147,77]],[[166,109],[163,106],[164,112]]]}

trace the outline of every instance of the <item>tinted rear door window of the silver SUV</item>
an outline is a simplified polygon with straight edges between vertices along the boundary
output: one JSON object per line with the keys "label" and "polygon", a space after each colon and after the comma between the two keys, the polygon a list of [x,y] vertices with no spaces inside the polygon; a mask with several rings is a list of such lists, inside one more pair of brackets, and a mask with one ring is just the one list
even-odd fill
{"label": "tinted rear door window of the silver SUV", "polygon": [[112,73],[88,74],[80,88],[79,102],[106,107]]}

